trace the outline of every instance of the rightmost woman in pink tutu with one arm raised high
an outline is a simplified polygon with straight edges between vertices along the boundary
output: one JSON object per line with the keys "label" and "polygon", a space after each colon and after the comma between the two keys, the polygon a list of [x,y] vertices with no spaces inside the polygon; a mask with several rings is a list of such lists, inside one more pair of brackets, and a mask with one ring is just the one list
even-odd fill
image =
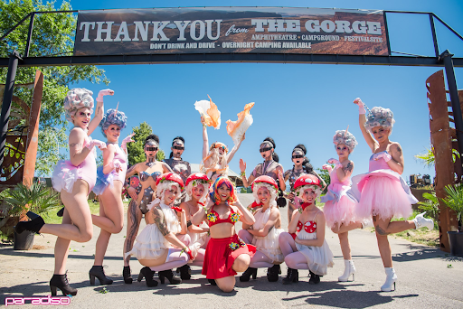
{"label": "rightmost woman in pink tutu with one arm raised high", "polygon": [[[373,155],[370,157],[369,173],[352,178],[352,188],[347,194],[358,201],[355,216],[357,220],[373,216],[378,248],[383,259],[386,282],[381,286],[384,292],[395,289],[397,276],[392,268],[391,246],[387,236],[407,229],[434,228],[434,222],[424,218],[424,213],[413,220],[391,221],[411,216],[411,204],[418,202],[402,179],[403,154],[399,143],[389,140],[394,124],[389,108],[372,108],[365,117],[365,106],[360,98],[354,104],[359,108],[359,126],[366,144]],[[372,136],[373,135],[373,136]]]}

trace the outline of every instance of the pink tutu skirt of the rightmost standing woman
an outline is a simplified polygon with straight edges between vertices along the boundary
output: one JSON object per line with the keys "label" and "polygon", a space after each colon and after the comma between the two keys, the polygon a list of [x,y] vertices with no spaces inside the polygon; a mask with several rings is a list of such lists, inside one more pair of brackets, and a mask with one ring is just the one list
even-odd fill
{"label": "pink tutu skirt of the rightmost standing woman", "polygon": [[418,200],[399,173],[377,170],[352,178],[352,188],[347,194],[358,201],[355,217],[359,220],[379,216],[382,220],[408,218],[411,204]]}

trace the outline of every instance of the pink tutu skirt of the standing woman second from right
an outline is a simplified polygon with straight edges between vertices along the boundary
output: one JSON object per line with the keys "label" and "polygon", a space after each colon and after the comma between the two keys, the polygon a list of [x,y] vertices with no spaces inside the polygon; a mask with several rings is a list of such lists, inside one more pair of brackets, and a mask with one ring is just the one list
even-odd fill
{"label": "pink tutu skirt of the standing woman second from right", "polygon": [[341,183],[331,183],[328,192],[321,198],[325,202],[323,213],[325,214],[326,226],[330,229],[341,223],[348,224],[355,221],[355,201],[347,196],[350,186]]}

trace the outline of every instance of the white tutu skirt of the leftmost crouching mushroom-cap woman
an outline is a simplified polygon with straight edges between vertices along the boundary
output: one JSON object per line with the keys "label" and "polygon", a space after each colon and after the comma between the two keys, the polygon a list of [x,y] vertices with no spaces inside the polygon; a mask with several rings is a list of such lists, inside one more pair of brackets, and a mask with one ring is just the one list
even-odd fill
{"label": "white tutu skirt of the leftmost crouching mushroom-cap woman", "polygon": [[137,239],[134,248],[125,257],[134,256],[138,259],[157,259],[169,248],[169,242],[157,229],[156,224],[147,224]]}

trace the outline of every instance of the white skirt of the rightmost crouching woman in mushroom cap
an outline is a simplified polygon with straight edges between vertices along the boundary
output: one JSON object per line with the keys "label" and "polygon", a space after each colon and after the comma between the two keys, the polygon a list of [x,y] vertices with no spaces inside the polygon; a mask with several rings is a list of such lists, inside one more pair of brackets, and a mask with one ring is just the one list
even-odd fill
{"label": "white skirt of the rightmost crouching woman in mushroom cap", "polygon": [[[305,229],[298,232],[298,239],[316,239],[317,232],[307,233]],[[333,267],[333,252],[328,247],[326,240],[321,247],[304,246],[296,243],[298,251],[307,258],[308,269],[318,276],[325,276],[328,273],[328,267]]]}

